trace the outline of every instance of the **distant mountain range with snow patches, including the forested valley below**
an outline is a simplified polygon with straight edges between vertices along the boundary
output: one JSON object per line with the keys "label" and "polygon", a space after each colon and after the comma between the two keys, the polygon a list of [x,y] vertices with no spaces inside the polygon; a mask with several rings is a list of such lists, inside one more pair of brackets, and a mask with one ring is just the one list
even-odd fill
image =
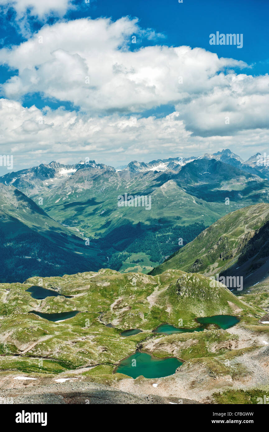
{"label": "distant mountain range with snow patches, including the forested valley below", "polygon": [[[227,213],[269,202],[268,168],[255,164],[259,156],[244,162],[226,149],[199,157],[133,161],[123,169],[85,160],[8,173],[0,178],[4,280],[101,267],[148,273]],[[125,194],[151,195],[150,211],[119,207],[118,196]],[[23,243],[27,254],[17,250],[22,232],[28,233]],[[42,252],[31,243],[35,236],[42,236],[35,241],[44,244]],[[49,251],[55,245],[59,257],[54,254],[52,263]],[[9,258],[15,256],[11,270]]]}

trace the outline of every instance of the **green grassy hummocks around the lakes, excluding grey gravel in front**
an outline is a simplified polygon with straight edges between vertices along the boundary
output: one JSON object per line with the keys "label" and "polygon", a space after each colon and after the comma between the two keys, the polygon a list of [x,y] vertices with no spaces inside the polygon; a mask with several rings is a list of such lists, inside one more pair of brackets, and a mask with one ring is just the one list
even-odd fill
{"label": "green grassy hummocks around the lakes, excluding grey gravel in front", "polygon": [[[36,356],[69,369],[99,363],[112,366],[138,347],[147,346],[149,338],[159,340],[152,330],[160,324],[167,322],[177,326],[179,319],[183,319],[183,326],[194,327],[197,326],[195,318],[199,316],[234,314],[231,305],[241,309],[244,325],[255,326],[263,314],[259,308],[241,302],[226,287],[211,288],[208,278],[180,270],[149,276],[103,269],[98,273],[42,278],[44,288],[73,295],[71,299],[63,296],[33,299],[26,289],[37,285],[39,279],[37,276],[23,284],[0,285],[1,298],[6,301],[0,302],[0,331],[4,335],[0,354],[1,359],[6,358],[7,362],[10,355],[18,355],[16,361],[12,360],[11,368],[16,368],[24,350],[24,359]],[[73,310],[80,313],[57,323],[30,314],[33,309],[46,313]],[[105,324],[109,323],[115,328],[106,327]],[[133,328],[140,328],[143,332],[131,337],[120,336],[122,330]],[[177,353],[181,358],[191,359],[211,356],[209,347],[212,344],[217,344],[217,341],[225,343],[234,337],[219,330],[166,338],[167,346],[173,340],[199,340],[199,344],[195,343],[190,349],[180,349]],[[156,346],[155,353],[163,356],[168,352],[170,355],[167,346]],[[227,349],[223,346],[217,351],[221,355]],[[8,365],[5,363],[3,367],[8,368]],[[35,369],[32,363],[27,367],[31,371]]]}

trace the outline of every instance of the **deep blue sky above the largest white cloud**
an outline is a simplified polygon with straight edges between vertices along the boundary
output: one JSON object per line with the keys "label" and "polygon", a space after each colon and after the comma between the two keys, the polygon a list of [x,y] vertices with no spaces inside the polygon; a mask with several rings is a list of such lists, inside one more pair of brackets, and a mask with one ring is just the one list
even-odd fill
{"label": "deep blue sky above the largest white cloud", "polygon": [[[42,1],[42,0],[40,0]],[[168,45],[190,45],[202,47],[218,56],[231,56],[256,64],[257,73],[267,72],[268,64],[268,16],[269,2],[267,0],[94,0],[90,4],[82,0],[73,2],[76,10],[69,10],[65,19],[82,17],[98,18],[112,17],[113,20],[122,16],[137,16],[141,27],[153,28],[156,32],[166,35]],[[10,7],[7,14],[1,15],[0,40],[1,46],[19,44],[23,36],[14,31],[15,11]],[[30,14],[29,14],[30,16]],[[51,16],[45,21],[53,23],[57,16]],[[40,29],[43,22],[30,16],[32,31]],[[238,51],[236,47],[210,47],[208,36],[219,30],[224,33],[243,33],[244,47]],[[150,42],[147,42],[150,43]]]}

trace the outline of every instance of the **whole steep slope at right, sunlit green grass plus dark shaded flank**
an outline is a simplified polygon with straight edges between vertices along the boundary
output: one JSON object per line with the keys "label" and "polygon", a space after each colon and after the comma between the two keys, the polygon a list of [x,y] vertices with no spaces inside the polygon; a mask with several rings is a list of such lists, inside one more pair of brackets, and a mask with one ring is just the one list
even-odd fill
{"label": "whole steep slope at right, sunlit green grass plus dark shaded flank", "polygon": [[249,206],[222,217],[151,274],[173,268],[206,276],[243,276],[244,286],[268,277],[269,204]]}

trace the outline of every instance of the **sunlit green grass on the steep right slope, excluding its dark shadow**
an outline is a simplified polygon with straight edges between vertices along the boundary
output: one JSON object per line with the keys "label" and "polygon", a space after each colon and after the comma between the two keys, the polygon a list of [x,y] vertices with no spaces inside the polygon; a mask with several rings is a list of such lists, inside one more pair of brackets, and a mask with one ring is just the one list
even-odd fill
{"label": "sunlit green grass on the steep right slope, excluding its dark shadow", "polygon": [[[253,232],[254,227],[258,225],[260,228],[268,220],[269,204],[265,203],[229,213],[205,229],[193,241],[152,270],[150,274],[157,275],[171,268],[186,272],[204,273],[206,271],[209,275],[216,272],[221,273],[231,263],[236,263],[237,259],[243,259],[239,252],[236,255],[234,251],[242,245],[242,254],[246,252],[243,248],[244,232],[248,230]],[[257,245],[257,248],[259,250],[260,245]]]}

